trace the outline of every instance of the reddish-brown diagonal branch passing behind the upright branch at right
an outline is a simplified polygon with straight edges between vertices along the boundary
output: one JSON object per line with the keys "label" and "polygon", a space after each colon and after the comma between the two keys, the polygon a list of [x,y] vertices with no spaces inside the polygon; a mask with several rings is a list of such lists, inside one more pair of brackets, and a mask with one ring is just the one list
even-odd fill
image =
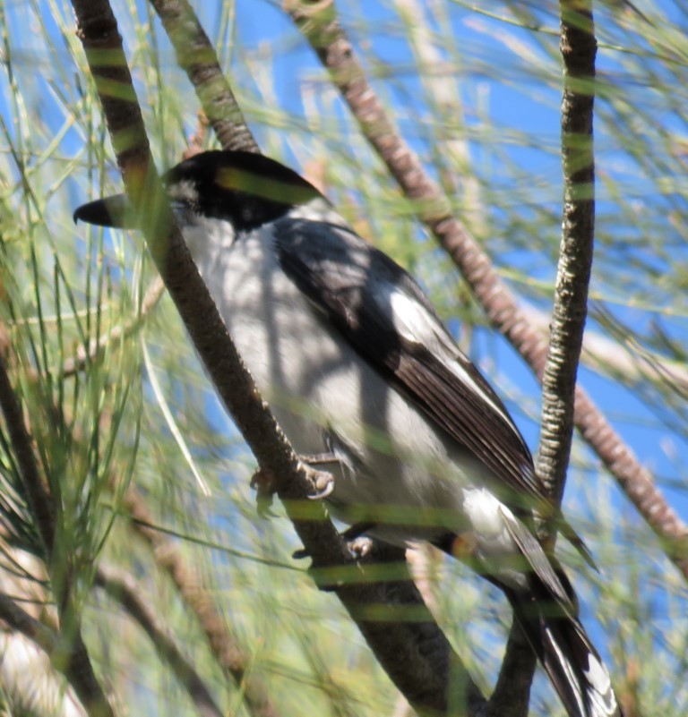
{"label": "reddish-brown diagonal branch passing behind the upright branch at right", "polygon": [[[466,226],[452,215],[447,197],[391,123],[340,26],[332,0],[288,0],[287,9],[329,71],[366,139],[404,194],[416,204],[418,218],[452,257],[495,328],[541,379],[546,363],[546,340],[531,327],[486,252]],[[575,396],[576,428],[657,533],[667,556],[688,579],[688,526],[669,506],[652,475],[580,386],[576,387]]]}

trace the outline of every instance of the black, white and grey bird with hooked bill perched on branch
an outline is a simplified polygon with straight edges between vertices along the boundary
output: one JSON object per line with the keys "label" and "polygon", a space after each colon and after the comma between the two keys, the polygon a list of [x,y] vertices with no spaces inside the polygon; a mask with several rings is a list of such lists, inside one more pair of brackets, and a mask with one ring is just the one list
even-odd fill
{"label": "black, white and grey bird with hooked bill perched on branch", "polygon": [[[463,560],[502,589],[570,717],[620,717],[538,517],[589,553],[417,281],[274,159],[208,150],[162,179],[262,397],[299,456],[330,464],[331,515],[348,534],[426,541]],[[124,194],[73,218],[141,226]]]}

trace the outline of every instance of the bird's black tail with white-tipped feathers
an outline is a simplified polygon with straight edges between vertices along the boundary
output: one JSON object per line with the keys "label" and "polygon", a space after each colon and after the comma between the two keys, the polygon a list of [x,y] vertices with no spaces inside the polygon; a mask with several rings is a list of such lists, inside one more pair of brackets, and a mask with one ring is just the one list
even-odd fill
{"label": "bird's black tail with white-tipped feathers", "polygon": [[571,717],[621,717],[609,673],[580,620],[563,613],[551,597],[505,592]]}

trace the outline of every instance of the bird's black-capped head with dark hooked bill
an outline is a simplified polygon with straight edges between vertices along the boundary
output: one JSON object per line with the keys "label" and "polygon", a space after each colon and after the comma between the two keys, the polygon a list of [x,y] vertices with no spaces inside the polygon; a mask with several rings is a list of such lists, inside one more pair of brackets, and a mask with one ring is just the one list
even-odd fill
{"label": "bird's black-capped head with dark hooked bill", "polygon": [[[320,197],[293,169],[245,151],[208,151],[185,159],[162,177],[177,210],[226,219],[238,230],[282,217],[289,209]],[[84,204],[74,212],[101,226],[133,227],[124,195]]]}

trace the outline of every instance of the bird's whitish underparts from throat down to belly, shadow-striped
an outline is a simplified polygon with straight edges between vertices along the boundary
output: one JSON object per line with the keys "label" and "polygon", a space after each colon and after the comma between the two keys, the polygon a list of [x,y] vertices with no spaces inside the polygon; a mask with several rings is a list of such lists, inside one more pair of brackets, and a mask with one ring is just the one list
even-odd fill
{"label": "bird's whitish underparts from throat down to belly, shadow-striped", "polygon": [[[345,446],[349,467],[333,466],[335,515],[350,523],[374,520],[393,542],[470,527],[464,489],[484,469],[438,436],[336,334],[323,330],[304,295],[286,277],[260,234],[200,251],[185,236],[239,353],[280,426],[301,455]],[[266,251],[268,250],[268,251]],[[402,436],[396,442],[391,436]],[[329,466],[328,466],[328,469]],[[402,527],[403,526],[403,527]]]}

